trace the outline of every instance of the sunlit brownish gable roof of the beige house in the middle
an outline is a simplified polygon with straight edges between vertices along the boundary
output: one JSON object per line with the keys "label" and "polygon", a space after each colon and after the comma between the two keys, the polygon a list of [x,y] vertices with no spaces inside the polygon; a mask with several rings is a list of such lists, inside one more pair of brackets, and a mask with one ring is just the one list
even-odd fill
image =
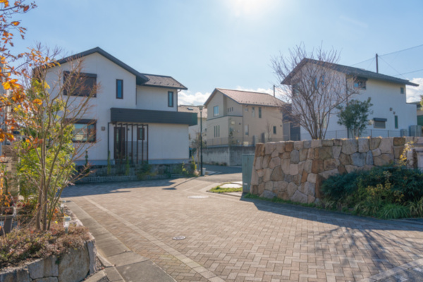
{"label": "sunlit brownish gable roof of the beige house in the middle", "polygon": [[217,92],[221,92],[221,94],[233,99],[233,101],[237,102],[238,104],[243,105],[255,105],[255,106],[283,106],[285,103],[280,99],[277,99],[267,93],[262,92],[251,92],[251,91],[243,91],[243,90],[229,90],[223,88],[216,88],[212,94],[209,96],[209,99],[204,103],[207,105],[212,97]]}

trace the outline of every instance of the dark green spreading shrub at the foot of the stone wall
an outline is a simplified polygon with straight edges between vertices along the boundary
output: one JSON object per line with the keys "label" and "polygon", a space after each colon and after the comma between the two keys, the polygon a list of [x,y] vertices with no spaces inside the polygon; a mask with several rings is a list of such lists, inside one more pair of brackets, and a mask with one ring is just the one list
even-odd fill
{"label": "dark green spreading shrub at the foot of the stone wall", "polygon": [[[321,185],[326,209],[397,219],[423,216],[423,173],[404,166],[379,166],[331,176]],[[392,209],[392,210],[390,210]],[[399,216],[399,217],[398,217]]]}

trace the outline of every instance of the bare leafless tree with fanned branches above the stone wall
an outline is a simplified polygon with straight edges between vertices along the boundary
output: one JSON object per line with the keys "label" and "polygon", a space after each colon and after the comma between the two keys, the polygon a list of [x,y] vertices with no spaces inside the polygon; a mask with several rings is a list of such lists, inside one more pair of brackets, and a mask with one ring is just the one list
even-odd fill
{"label": "bare leafless tree with fanned branches above the stone wall", "polygon": [[271,59],[272,68],[283,84],[284,113],[307,130],[312,139],[324,139],[327,125],[337,106],[358,93],[355,77],[345,75],[337,51],[319,47],[307,52],[303,44],[288,56]]}

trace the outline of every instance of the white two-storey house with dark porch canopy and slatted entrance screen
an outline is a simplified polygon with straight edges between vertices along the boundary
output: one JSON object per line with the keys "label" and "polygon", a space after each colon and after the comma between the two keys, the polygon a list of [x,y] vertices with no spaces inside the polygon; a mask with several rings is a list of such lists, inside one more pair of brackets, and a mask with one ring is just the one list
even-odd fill
{"label": "white two-storey house with dark porch canopy and slatted entrance screen", "polygon": [[126,158],[134,164],[188,161],[188,127],[197,124],[197,115],[178,111],[178,91],[187,87],[170,76],[135,71],[99,47],[59,60],[49,73],[64,77],[74,59],[83,59],[88,84],[101,85],[90,116],[75,124],[76,139],[94,133],[87,153],[91,164],[106,164],[109,152],[115,164]]}

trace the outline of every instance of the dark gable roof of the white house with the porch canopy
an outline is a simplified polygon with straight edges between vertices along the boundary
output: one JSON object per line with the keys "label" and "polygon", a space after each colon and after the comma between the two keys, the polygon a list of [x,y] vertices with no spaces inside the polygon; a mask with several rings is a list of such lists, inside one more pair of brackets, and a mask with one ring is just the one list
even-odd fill
{"label": "dark gable roof of the white house with the porch canopy", "polygon": [[183,89],[187,90],[188,88],[180,84],[177,80],[172,78],[171,76],[165,76],[165,75],[151,75],[147,73],[140,73],[138,71],[135,71],[134,68],[131,68],[126,63],[123,63],[123,61],[117,59],[115,56],[111,56],[111,54],[107,53],[100,47],[95,47],[93,49],[80,52],[75,55],[67,56],[66,58],[58,60],[59,63],[67,63],[68,61],[72,61],[75,59],[82,58],[84,56],[88,56],[94,53],[98,53],[102,56],[104,56],[106,59],[109,59],[109,61],[112,61],[116,63],[116,65],[120,66],[121,68],[125,69],[125,71],[128,71],[129,73],[132,73],[135,75],[137,80],[137,85],[145,85],[145,86],[152,86],[152,87],[166,87],[166,88],[174,88],[174,89]]}

